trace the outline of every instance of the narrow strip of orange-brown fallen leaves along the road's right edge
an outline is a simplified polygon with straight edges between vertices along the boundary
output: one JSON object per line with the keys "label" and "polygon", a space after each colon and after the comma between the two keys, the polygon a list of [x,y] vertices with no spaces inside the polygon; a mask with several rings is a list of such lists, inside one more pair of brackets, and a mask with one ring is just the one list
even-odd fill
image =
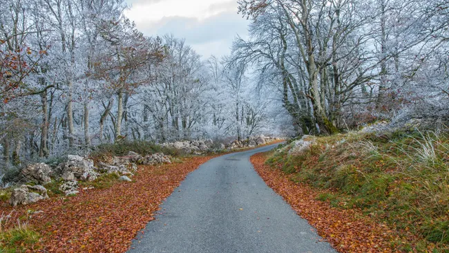
{"label": "narrow strip of orange-brown fallen leaves along the road's right edge", "polygon": [[251,157],[258,174],[338,252],[400,252],[393,243],[399,241],[397,233],[385,224],[375,223],[356,209],[340,209],[316,200],[320,191],[289,180],[280,169],[265,165],[266,159],[264,153]]}

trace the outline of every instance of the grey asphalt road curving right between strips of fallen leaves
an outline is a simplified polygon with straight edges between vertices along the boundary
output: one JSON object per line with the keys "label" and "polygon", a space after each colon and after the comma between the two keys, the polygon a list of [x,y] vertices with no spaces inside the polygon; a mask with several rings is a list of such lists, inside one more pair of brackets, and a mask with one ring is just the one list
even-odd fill
{"label": "grey asphalt road curving right between strips of fallen leaves", "polygon": [[128,252],[335,252],[254,171],[249,157],[275,146],[193,171]]}

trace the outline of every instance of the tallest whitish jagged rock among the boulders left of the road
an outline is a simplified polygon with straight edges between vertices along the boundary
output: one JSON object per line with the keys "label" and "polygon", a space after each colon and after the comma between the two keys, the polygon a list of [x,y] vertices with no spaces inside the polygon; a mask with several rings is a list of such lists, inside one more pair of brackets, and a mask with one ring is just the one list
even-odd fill
{"label": "tallest whitish jagged rock among the boulders left of the road", "polygon": [[82,156],[68,156],[67,162],[61,163],[57,171],[61,171],[61,178],[66,181],[93,181],[99,176],[93,160]]}

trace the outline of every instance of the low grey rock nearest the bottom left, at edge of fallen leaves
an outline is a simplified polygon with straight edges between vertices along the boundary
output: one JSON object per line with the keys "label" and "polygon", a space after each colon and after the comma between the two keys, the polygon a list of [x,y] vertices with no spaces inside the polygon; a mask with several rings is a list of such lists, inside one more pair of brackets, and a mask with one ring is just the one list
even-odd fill
{"label": "low grey rock nearest the bottom left, at edge of fallen leaves", "polygon": [[48,198],[47,189],[42,185],[21,185],[21,187],[12,190],[10,205],[13,207],[28,205],[46,198]]}

